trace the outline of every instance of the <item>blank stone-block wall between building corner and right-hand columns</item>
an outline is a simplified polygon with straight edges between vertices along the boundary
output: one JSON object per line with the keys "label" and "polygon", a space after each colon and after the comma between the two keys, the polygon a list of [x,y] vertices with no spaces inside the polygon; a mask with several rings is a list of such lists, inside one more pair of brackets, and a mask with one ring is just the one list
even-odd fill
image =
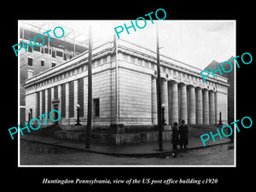
{"label": "blank stone-block wall between building corner and right-hand columns", "polygon": [[119,122],[150,125],[151,76],[120,69],[119,77]]}

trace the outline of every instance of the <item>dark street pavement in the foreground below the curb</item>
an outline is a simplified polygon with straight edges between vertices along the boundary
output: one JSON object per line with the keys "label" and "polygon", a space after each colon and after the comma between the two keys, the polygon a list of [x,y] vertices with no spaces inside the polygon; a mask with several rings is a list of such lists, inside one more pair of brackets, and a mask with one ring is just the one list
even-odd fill
{"label": "dark street pavement in the foreground below the curb", "polygon": [[26,165],[234,165],[233,144],[226,143],[209,148],[190,149],[180,152],[176,158],[166,157],[115,157],[104,154],[81,152],[71,148],[61,148],[43,143],[20,140],[20,166]]}

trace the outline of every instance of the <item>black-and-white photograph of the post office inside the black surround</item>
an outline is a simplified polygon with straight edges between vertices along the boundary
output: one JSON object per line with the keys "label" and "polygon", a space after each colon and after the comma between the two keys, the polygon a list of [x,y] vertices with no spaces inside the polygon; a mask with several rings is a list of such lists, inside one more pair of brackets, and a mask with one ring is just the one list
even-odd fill
{"label": "black-and-white photograph of the post office inside the black surround", "polygon": [[18,35],[20,166],[236,166],[236,20],[19,20]]}

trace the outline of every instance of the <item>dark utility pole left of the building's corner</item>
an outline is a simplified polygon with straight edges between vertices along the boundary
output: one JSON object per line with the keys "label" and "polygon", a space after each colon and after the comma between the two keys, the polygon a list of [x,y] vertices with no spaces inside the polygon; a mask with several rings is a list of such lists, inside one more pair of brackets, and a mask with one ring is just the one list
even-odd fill
{"label": "dark utility pole left of the building's corner", "polygon": [[91,127],[91,57],[92,57],[92,37],[91,37],[91,28],[89,23],[89,51],[88,51],[88,109],[87,109],[87,126],[86,126],[86,141],[85,148],[90,148],[90,127]]}

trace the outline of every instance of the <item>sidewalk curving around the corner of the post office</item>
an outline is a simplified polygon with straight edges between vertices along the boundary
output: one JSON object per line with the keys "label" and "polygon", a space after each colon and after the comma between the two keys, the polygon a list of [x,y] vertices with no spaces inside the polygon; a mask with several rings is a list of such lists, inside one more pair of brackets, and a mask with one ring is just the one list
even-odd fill
{"label": "sidewalk curving around the corner of the post office", "polygon": [[[74,143],[69,140],[63,140],[53,137],[38,137],[32,135],[20,136],[21,140],[26,140],[35,143],[45,143],[56,147],[73,148],[82,150],[84,152],[96,153],[96,154],[108,154],[114,156],[133,156],[133,157],[148,157],[159,156],[163,154],[172,154],[172,143],[164,142],[163,151],[158,150],[158,143],[137,143],[122,146],[102,145],[102,144],[90,144],[90,149],[85,148],[85,143]],[[207,147],[222,143],[230,143],[230,139],[224,137],[222,140],[216,138],[216,143],[208,140]],[[200,137],[189,137],[189,150],[195,148],[207,148],[203,146]],[[179,148],[179,146],[178,146]]]}

